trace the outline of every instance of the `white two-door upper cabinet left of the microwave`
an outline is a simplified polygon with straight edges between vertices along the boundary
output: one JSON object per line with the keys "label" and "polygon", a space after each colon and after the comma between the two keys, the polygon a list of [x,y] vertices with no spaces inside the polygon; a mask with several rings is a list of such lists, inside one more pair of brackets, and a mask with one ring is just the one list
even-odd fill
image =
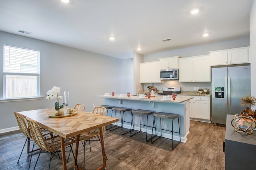
{"label": "white two-door upper cabinet left of the microwave", "polygon": [[140,83],[162,83],[160,80],[160,62],[140,63]]}

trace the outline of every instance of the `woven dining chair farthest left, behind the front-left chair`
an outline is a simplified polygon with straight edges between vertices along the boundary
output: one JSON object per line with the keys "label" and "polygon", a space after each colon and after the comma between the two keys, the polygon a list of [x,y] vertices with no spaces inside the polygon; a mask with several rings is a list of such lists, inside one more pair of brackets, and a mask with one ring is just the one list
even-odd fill
{"label": "woven dining chair farthest left, behind the front-left chair", "polygon": [[[22,116],[20,113],[17,113],[17,112],[14,112],[14,115],[15,115],[15,117],[16,117],[16,119],[17,119],[18,126],[19,126],[19,128],[20,128],[20,131],[27,137],[26,140],[25,140],[25,143],[24,143],[24,145],[23,145],[23,148],[22,148],[22,150],[21,150],[21,152],[20,152],[20,157],[21,157],[21,154],[22,154],[22,152],[23,152],[23,150],[24,150],[24,147],[25,147],[26,143],[32,141],[32,140],[30,140],[30,139],[32,139],[32,136],[30,135],[30,130],[29,130],[29,128],[27,127],[26,122],[25,122],[25,119],[23,118],[23,116]],[[51,136],[52,136],[52,132],[49,131],[49,130],[47,130],[47,129],[45,129],[45,128],[43,128],[43,127],[40,128],[40,132],[41,132],[41,134],[42,134],[44,137],[45,137],[46,135],[51,135]],[[28,151],[27,151],[27,152],[28,152],[28,155],[32,152],[32,151],[29,150],[29,146],[30,146],[30,143],[28,143]],[[34,151],[39,150],[39,149],[40,149],[40,148],[35,149]],[[19,157],[19,159],[18,159],[17,164],[19,163],[20,157]]]}

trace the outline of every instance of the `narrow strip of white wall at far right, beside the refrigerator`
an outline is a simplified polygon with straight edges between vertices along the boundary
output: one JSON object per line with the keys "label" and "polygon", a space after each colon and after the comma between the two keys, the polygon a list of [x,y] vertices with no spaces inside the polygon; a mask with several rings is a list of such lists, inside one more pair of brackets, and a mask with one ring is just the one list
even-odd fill
{"label": "narrow strip of white wall at far right, beside the refrigerator", "polygon": [[[250,12],[250,44],[251,44],[251,95],[256,96],[256,0]],[[253,108],[254,110],[256,107]]]}

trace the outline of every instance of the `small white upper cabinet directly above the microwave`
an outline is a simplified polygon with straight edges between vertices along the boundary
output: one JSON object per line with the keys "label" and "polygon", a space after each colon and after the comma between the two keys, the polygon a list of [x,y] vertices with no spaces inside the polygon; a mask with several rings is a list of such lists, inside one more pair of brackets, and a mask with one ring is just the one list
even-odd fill
{"label": "small white upper cabinet directly above the microwave", "polygon": [[178,69],[179,57],[180,56],[160,58],[160,69]]}

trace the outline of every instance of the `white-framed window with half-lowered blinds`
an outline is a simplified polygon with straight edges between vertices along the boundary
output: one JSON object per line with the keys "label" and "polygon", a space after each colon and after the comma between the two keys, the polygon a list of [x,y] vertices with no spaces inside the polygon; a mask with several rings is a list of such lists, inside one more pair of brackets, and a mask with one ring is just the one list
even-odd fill
{"label": "white-framed window with half-lowered blinds", "polygon": [[4,45],[4,99],[40,96],[40,51]]}

